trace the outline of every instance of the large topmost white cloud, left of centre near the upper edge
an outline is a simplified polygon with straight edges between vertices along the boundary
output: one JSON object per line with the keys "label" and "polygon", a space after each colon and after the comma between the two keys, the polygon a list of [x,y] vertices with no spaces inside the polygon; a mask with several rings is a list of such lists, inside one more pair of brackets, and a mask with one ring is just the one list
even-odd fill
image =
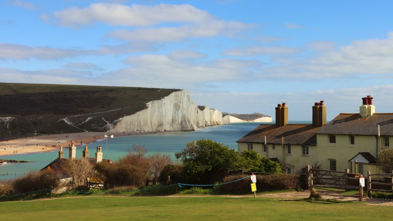
{"label": "large topmost white cloud, left of centre near the upper edge", "polygon": [[54,12],[57,24],[78,27],[96,22],[111,26],[152,26],[162,23],[200,23],[212,16],[189,4],[159,4],[131,6],[123,4],[93,3],[86,8],[71,7]]}

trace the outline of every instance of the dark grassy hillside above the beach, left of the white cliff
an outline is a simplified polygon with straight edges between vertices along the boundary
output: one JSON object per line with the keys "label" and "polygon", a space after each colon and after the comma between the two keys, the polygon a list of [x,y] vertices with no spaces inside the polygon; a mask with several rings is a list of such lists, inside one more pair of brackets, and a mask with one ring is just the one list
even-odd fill
{"label": "dark grassy hillside above the beach, left of the white cliff", "polygon": [[[108,123],[179,89],[0,83],[0,138],[106,131]],[[72,124],[65,123],[68,118]],[[4,118],[3,118],[4,119]]]}

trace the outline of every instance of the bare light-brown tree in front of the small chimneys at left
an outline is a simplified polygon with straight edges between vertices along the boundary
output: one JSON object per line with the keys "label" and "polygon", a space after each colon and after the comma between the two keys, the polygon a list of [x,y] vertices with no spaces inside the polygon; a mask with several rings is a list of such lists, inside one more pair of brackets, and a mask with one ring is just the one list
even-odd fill
{"label": "bare light-brown tree in front of the small chimneys at left", "polygon": [[78,160],[67,159],[62,162],[61,168],[74,180],[74,186],[85,185],[86,178],[96,175],[94,166],[85,158]]}

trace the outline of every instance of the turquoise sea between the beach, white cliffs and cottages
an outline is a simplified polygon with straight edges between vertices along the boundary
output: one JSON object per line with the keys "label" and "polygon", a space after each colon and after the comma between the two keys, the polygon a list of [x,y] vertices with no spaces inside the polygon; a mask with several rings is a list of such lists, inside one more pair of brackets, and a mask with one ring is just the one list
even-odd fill
{"label": "turquoise sea between the beach, white cliffs and cottages", "polygon": [[[290,121],[290,124],[306,123],[310,121]],[[111,159],[117,161],[133,150],[133,145],[140,145],[147,149],[146,154],[153,154],[157,152],[166,153],[172,156],[176,162],[174,153],[181,151],[186,147],[186,143],[199,139],[211,139],[218,143],[223,143],[229,148],[237,150],[236,140],[242,138],[244,135],[252,131],[261,123],[244,122],[231,123],[219,126],[210,126],[199,128],[190,132],[168,132],[148,135],[127,136],[118,138],[108,138],[88,143],[89,157],[95,157],[96,147],[101,146],[103,152],[103,159]],[[274,124],[262,123],[262,124]],[[84,146],[82,144],[77,146],[77,158],[82,157]],[[63,148],[64,157],[68,157],[68,148]],[[8,180],[23,176],[31,170],[40,170],[49,165],[58,157],[58,150],[42,153],[31,154],[17,154],[17,155],[0,155],[0,159],[5,160],[23,160],[32,161],[30,163],[7,163],[0,166],[0,180]]]}

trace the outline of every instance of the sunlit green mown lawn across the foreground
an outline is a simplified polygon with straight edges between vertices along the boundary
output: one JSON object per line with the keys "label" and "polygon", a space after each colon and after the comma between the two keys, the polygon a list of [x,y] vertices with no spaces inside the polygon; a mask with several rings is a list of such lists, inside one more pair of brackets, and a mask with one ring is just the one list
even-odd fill
{"label": "sunlit green mown lawn across the foreground", "polygon": [[223,196],[82,196],[0,202],[1,220],[391,220],[360,202]]}

